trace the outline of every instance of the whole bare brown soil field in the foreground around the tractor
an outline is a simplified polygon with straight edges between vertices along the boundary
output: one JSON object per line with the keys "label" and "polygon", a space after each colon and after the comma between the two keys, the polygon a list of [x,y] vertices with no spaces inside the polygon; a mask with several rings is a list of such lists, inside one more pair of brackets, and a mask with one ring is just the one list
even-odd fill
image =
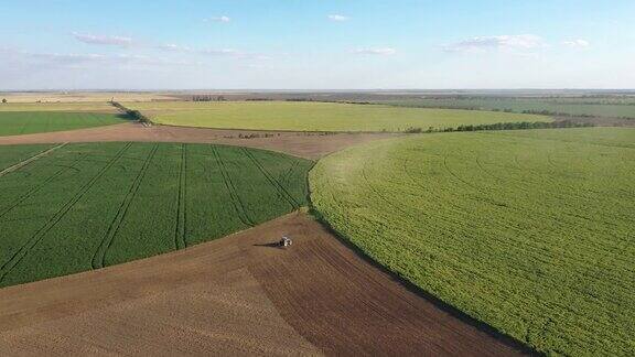
{"label": "whole bare brown soil field in the foreground around the tractor", "polygon": [[[290,249],[271,246],[290,235]],[[293,213],[224,239],[0,290],[0,354],[521,354]]]}

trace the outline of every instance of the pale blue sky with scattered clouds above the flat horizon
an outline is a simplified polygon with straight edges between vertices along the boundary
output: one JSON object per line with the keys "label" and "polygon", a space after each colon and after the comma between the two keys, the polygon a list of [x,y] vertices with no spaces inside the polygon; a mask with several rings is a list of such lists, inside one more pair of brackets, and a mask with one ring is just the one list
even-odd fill
{"label": "pale blue sky with scattered clouds above the flat horizon", "polygon": [[0,89],[634,88],[635,1],[2,1]]}

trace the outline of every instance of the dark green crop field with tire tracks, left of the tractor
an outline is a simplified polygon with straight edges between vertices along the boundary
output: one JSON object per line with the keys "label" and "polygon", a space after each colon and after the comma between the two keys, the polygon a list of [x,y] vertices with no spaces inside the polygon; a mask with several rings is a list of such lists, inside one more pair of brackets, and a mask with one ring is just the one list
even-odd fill
{"label": "dark green crop field with tire tracks, left of the tractor", "polygon": [[[0,172],[54,145],[3,147]],[[0,286],[150,257],[306,204],[312,162],[233,147],[85,143],[0,174]]]}

